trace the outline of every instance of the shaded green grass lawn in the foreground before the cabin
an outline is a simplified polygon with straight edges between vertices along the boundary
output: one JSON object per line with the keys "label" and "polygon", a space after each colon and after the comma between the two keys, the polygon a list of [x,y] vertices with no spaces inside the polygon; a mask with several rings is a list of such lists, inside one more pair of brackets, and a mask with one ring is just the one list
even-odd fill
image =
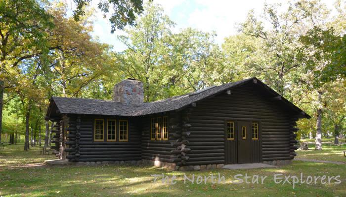
{"label": "shaded green grass lawn in the foreground before the cabin", "polygon": [[[0,196],[41,197],[104,197],[104,196],[198,196],[198,197],[345,197],[346,166],[340,164],[321,164],[294,161],[293,164],[277,167],[250,170],[215,169],[200,172],[168,171],[152,166],[59,166],[40,165],[54,156],[40,155],[35,149],[24,152],[22,145],[7,146],[0,150]],[[8,149],[10,148],[10,149]],[[337,176],[341,184],[275,184],[273,175],[296,175],[300,173],[306,178],[312,176]],[[177,177],[176,184],[154,183],[151,174]],[[220,173],[225,176],[225,183],[184,184],[184,174],[209,176]],[[267,176],[263,184],[235,184],[235,175]],[[233,183],[231,183],[233,181]],[[250,178],[251,182],[251,178]]]}

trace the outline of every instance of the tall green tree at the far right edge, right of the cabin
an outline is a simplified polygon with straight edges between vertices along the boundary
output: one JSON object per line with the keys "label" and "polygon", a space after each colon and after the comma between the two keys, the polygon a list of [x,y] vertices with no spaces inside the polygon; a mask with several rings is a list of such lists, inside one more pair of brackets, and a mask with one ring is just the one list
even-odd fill
{"label": "tall green tree at the far right edge, right of the cabin", "polygon": [[314,107],[317,106],[315,150],[322,149],[322,113],[330,105],[330,100],[323,99],[326,98],[323,95],[328,93],[331,89],[330,86],[334,85],[331,81],[338,81],[340,78],[345,78],[346,76],[346,62],[343,55],[346,52],[343,48],[346,39],[341,36],[346,27],[346,18],[345,11],[342,11],[340,7],[341,4],[339,1],[339,3],[337,2],[339,16],[336,17],[336,20],[325,23],[324,26],[314,23],[310,30],[299,38],[303,44],[299,50],[301,54],[300,59],[304,63],[300,71],[306,73],[306,77],[303,77],[303,80],[298,79],[298,81],[308,84],[310,90],[317,94],[317,98],[313,100]]}

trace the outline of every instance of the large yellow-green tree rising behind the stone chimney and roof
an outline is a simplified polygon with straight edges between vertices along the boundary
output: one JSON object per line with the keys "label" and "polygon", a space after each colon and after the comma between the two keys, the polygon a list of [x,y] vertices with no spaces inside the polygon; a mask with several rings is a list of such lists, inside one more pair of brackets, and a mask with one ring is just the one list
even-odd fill
{"label": "large yellow-green tree rising behind the stone chimney and roof", "polygon": [[213,84],[229,82],[223,53],[214,43],[215,33],[187,28],[172,33],[173,21],[160,5],[148,2],[120,40],[127,49],[116,55],[116,79],[143,82],[144,101],[165,99]]}

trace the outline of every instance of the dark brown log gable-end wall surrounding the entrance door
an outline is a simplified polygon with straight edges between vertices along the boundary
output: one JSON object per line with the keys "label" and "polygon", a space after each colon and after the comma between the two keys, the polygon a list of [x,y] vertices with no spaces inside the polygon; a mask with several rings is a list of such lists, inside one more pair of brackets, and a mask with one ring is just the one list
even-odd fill
{"label": "dark brown log gable-end wall surrounding the entrance door", "polygon": [[[222,93],[190,106],[187,137],[191,149],[186,154],[184,165],[235,163],[232,158],[226,161],[225,154],[234,154],[234,149],[225,149],[225,121],[259,122],[259,149],[252,151],[254,161],[288,160],[294,157],[295,136],[293,124],[296,119],[278,101],[270,101],[256,84],[244,85],[231,90],[231,95]],[[249,134],[252,133],[251,131]],[[236,144],[230,147],[235,148]]]}

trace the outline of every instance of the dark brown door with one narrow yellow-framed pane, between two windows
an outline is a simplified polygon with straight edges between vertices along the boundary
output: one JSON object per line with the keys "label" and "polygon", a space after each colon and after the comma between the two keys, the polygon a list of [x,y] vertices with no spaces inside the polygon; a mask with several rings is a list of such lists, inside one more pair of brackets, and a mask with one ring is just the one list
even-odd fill
{"label": "dark brown door with one narrow yellow-framed pane, between two windows", "polygon": [[238,164],[251,163],[252,130],[251,122],[237,122]]}

